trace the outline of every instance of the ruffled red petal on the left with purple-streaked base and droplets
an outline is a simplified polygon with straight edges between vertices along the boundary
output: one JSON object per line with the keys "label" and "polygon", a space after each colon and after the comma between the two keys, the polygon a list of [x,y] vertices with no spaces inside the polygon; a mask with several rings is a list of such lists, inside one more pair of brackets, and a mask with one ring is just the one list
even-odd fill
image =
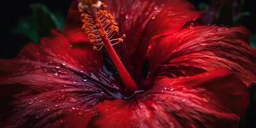
{"label": "ruffled red petal on the left with purple-streaked base and droplets", "polygon": [[1,127],[86,126],[97,102],[120,98],[102,61],[90,47],[70,47],[58,31],[0,60]]}

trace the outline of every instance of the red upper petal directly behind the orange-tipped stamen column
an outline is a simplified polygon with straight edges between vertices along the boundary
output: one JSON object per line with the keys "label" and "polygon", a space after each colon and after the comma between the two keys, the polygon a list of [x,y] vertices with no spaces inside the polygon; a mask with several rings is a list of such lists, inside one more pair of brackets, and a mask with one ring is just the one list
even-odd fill
{"label": "red upper petal directly behind the orange-tipped stamen column", "polygon": [[[152,36],[166,35],[179,31],[187,22],[195,21],[201,15],[196,12],[192,4],[186,0],[106,0],[110,12],[118,22],[119,35],[126,34],[122,45],[115,49],[122,58],[122,62],[134,76],[143,67],[148,40]],[[68,13],[66,30],[81,28],[82,24],[74,1]],[[136,59],[134,59],[136,58]],[[136,60],[136,61],[134,61]],[[136,77],[141,76],[140,73]]]}

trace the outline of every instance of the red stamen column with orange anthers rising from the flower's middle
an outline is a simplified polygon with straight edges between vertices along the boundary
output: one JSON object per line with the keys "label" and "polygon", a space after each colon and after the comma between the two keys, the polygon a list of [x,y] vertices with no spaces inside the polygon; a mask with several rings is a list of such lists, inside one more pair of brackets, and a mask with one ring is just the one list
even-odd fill
{"label": "red stamen column with orange anthers rising from the flower's middle", "polygon": [[115,64],[125,88],[129,92],[138,90],[138,86],[132,79],[129,72],[127,72],[120,58],[115,52],[113,45],[124,41],[125,35],[120,38],[113,38],[119,28],[114,17],[108,13],[106,9],[108,6],[101,1],[96,0],[82,0],[79,5],[79,12],[83,19],[83,29],[86,35],[90,38],[90,43],[93,44],[93,49],[100,51],[103,46],[106,47],[109,56]]}

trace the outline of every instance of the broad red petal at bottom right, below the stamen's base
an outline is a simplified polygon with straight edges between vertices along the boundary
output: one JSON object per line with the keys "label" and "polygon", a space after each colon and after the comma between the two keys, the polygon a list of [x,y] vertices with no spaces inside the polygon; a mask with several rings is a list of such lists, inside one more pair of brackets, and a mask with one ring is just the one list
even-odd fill
{"label": "broad red petal at bottom right, below the stamen's base", "polygon": [[193,77],[158,77],[155,87],[135,100],[97,105],[99,127],[238,127],[248,90],[220,68]]}

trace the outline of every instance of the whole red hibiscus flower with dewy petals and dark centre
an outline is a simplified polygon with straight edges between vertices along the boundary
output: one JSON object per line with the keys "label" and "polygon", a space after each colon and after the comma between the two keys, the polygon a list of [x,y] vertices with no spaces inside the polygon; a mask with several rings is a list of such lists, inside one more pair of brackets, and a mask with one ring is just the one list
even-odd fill
{"label": "whole red hibiscus flower with dewy petals and dark centre", "polygon": [[200,25],[186,0],[97,2],[74,1],[64,33],[0,60],[1,127],[238,127],[250,31]]}

